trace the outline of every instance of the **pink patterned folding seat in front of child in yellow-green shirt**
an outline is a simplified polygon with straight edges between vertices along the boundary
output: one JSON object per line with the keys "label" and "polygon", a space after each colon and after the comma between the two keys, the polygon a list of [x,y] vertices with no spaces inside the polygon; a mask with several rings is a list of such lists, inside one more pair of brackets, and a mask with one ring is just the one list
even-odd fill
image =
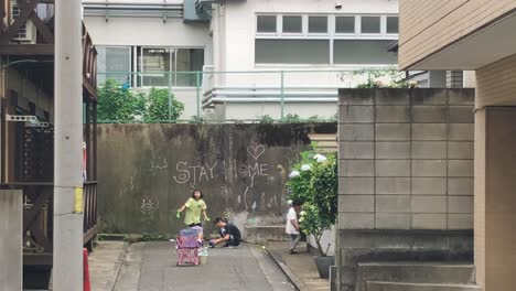
{"label": "pink patterned folding seat in front of child in yellow-green shirt", "polygon": [[197,266],[198,259],[198,242],[197,236],[202,231],[201,227],[192,227],[180,230],[180,235],[175,240],[178,250],[178,266]]}

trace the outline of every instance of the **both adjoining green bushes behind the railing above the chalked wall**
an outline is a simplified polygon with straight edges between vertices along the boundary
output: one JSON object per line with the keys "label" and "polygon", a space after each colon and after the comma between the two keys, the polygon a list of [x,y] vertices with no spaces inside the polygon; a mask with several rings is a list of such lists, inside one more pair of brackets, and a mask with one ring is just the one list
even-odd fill
{"label": "both adjoining green bushes behind the railing above the chalked wall", "polygon": [[[169,98],[172,98],[171,118],[169,118]],[[108,79],[98,89],[99,121],[175,122],[183,110],[184,105],[173,98],[166,88],[151,88],[146,95],[133,91],[115,79]]]}

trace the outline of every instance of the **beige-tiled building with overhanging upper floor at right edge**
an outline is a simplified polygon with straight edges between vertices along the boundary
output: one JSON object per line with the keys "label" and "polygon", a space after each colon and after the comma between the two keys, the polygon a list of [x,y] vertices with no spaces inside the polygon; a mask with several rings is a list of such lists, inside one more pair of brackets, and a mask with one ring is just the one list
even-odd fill
{"label": "beige-tiled building with overhanging upper floor at right edge", "polygon": [[476,281],[513,290],[516,186],[516,2],[400,1],[402,69],[475,71]]}

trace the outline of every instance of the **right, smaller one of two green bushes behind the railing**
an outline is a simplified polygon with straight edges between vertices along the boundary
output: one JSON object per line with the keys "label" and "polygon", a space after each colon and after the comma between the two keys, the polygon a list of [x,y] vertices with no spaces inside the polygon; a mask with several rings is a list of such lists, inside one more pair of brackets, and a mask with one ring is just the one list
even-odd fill
{"label": "right, smaller one of two green bushes behind the railing", "polygon": [[[172,98],[170,104],[169,98]],[[170,95],[170,91],[166,88],[151,88],[149,95],[147,96],[147,104],[148,107],[143,115],[143,119],[146,121],[175,122],[184,110],[184,104],[173,98],[173,96]]]}

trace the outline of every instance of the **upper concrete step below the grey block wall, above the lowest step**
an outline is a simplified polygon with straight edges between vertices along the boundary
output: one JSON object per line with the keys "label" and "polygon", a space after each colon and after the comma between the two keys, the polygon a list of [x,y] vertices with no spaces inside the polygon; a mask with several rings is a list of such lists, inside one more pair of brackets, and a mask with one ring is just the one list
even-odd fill
{"label": "upper concrete step below the grey block wall, above the lowest step", "polygon": [[474,279],[473,265],[452,262],[361,262],[357,278],[361,290],[367,281],[473,284]]}

